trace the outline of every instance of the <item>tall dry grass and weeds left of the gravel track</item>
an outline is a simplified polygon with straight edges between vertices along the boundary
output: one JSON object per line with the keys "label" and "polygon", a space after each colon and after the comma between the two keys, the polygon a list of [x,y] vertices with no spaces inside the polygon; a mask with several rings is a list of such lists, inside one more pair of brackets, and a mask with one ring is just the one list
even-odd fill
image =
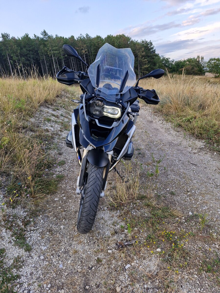
{"label": "tall dry grass and weeds left of the gravel track", "polygon": [[51,78],[0,79],[0,175],[11,203],[18,197],[38,201],[53,189],[54,182],[42,173],[50,165],[45,146],[27,129],[38,107],[53,102],[64,88]]}

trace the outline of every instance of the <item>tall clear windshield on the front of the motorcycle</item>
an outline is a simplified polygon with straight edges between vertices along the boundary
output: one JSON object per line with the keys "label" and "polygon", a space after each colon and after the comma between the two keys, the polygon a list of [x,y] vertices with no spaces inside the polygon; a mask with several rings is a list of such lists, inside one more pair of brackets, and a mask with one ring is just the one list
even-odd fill
{"label": "tall clear windshield on the front of the motorcycle", "polygon": [[94,88],[107,95],[125,93],[136,82],[134,55],[130,48],[117,49],[108,43],[103,45],[88,74]]}

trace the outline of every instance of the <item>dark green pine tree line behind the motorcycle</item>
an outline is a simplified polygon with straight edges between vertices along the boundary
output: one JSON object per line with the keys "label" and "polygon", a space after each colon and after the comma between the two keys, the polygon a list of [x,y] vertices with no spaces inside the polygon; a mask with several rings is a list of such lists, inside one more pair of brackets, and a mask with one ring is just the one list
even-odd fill
{"label": "dark green pine tree line behind the motorcycle", "polygon": [[99,35],[91,37],[88,34],[64,38],[58,35],[54,37],[43,30],[40,36],[34,35],[33,38],[28,34],[15,38],[8,33],[1,33],[0,76],[20,76],[26,79],[34,72],[41,76],[55,77],[63,66],[84,71],[84,64],[75,58],[68,58],[62,46],[69,44],[74,47],[80,57],[90,65],[105,43],[117,48],[131,48],[135,57],[134,70],[138,77],[156,68],[167,69],[171,73],[180,73],[184,68],[186,74],[195,75],[203,75],[207,71],[207,64],[202,56],[171,60],[157,54],[151,41],[137,41],[123,34],[107,35],[105,38]]}

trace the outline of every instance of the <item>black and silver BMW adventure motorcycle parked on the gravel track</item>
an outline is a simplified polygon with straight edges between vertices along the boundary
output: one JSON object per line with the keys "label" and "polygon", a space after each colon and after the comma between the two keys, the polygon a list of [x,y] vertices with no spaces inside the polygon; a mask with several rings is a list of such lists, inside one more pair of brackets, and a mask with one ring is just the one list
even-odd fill
{"label": "black and silver BMW adventure motorcycle parked on the gravel track", "polygon": [[76,190],[81,195],[77,229],[85,234],[94,224],[108,173],[116,169],[121,158],[131,160],[133,156],[131,139],[140,109],[137,99],[154,105],[160,102],[155,90],[139,87],[138,81],[145,77],[160,78],[164,70],[155,69],[136,82],[130,48],[116,49],[106,43],[89,68],[73,47],[64,45],[63,50],[87,68],[85,72],[76,72],[63,67],[56,76],[62,84],[79,84],[83,93],[80,100],[73,100],[79,106],[73,110],[72,130],[66,144],[74,148],[80,166]]}

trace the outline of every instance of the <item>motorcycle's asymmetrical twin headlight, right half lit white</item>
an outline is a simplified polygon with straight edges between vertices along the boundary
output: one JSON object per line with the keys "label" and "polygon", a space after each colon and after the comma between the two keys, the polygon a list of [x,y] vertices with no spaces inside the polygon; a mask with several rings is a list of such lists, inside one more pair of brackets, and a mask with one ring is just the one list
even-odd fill
{"label": "motorcycle's asymmetrical twin headlight, right half lit white", "polygon": [[106,106],[101,101],[94,101],[91,103],[90,112],[97,116],[109,116],[111,118],[119,118],[121,116],[121,109],[114,106]]}

